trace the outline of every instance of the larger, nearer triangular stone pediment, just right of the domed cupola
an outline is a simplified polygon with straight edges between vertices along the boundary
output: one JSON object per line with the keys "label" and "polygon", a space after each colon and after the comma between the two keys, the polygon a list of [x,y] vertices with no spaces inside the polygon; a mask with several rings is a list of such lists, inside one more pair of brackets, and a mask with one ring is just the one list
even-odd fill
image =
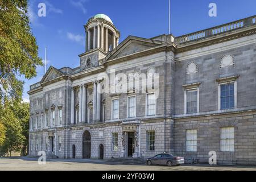
{"label": "larger, nearer triangular stone pediment, just right of the domed cupola", "polygon": [[137,52],[146,51],[154,47],[162,46],[162,42],[152,39],[129,36],[106,56],[105,60],[117,59],[119,57],[132,55]]}

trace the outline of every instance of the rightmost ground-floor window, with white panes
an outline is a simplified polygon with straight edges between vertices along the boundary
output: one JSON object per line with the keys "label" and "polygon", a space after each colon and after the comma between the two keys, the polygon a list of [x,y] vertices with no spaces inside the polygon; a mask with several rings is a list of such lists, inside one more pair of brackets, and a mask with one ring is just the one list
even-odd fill
{"label": "rightmost ground-floor window, with white panes", "polygon": [[234,127],[221,128],[221,151],[233,152],[234,151]]}

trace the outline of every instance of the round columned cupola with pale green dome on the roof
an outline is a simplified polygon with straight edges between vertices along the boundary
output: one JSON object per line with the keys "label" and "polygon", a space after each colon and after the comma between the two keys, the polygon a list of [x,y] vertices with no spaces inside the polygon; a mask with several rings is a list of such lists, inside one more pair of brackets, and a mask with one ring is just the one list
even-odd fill
{"label": "round columned cupola with pale green dome on the roof", "polygon": [[120,32],[105,14],[97,14],[90,18],[85,25],[85,31],[86,51],[100,48],[109,52],[118,46]]}

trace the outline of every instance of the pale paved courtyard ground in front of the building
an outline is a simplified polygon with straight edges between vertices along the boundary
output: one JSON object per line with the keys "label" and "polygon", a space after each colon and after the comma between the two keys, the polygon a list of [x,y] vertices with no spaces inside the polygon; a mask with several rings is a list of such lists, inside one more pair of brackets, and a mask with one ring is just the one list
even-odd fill
{"label": "pale paved courtyard ground in front of the building", "polygon": [[125,165],[110,163],[105,160],[91,160],[91,159],[52,159],[46,162],[46,165],[39,165],[36,159],[31,158],[0,158],[0,171],[3,170],[79,170],[79,171],[216,171],[216,170],[232,170],[232,171],[256,171],[256,166],[237,166],[225,167],[209,165],[182,165],[175,167],[167,166],[146,166],[142,165]]}

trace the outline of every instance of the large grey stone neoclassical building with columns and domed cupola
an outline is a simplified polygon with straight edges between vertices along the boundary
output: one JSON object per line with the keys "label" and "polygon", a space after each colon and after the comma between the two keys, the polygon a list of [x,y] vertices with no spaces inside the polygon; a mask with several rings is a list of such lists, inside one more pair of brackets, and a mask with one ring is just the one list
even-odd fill
{"label": "large grey stone neoclassical building with columns and domed cupola", "polygon": [[[208,162],[216,151],[218,164],[256,163],[255,16],[179,37],[129,36],[120,44],[104,14],[84,27],[80,66],[50,67],[30,86],[31,156],[169,152]],[[145,75],[154,81],[143,90]],[[102,92],[118,84],[127,92]]]}

